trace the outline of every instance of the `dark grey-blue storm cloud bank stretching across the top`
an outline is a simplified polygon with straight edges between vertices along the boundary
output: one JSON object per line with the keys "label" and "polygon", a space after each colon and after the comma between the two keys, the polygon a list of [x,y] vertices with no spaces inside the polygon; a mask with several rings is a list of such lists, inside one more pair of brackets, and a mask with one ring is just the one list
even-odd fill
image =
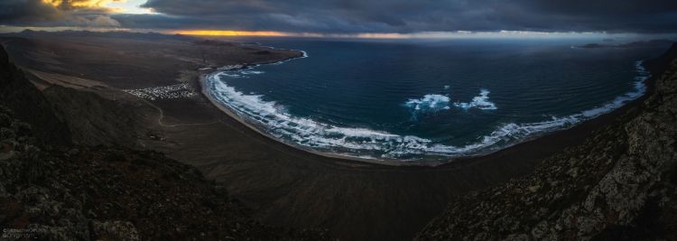
{"label": "dark grey-blue storm cloud bank stretching across the top", "polygon": [[[1,24],[63,24],[66,18],[60,14],[73,15],[37,0],[5,0],[0,7]],[[107,17],[120,27],[144,29],[677,32],[674,0],[149,0],[142,7],[157,14],[75,15]]]}

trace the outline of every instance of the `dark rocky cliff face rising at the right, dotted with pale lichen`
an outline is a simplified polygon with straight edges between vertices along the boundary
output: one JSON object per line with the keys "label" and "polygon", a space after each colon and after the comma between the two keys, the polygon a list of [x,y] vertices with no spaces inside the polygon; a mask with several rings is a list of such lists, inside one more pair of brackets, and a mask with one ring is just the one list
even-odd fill
{"label": "dark rocky cliff face rising at the right, dotted with pale lichen", "polygon": [[644,103],[533,174],[450,203],[416,239],[677,240],[675,55]]}

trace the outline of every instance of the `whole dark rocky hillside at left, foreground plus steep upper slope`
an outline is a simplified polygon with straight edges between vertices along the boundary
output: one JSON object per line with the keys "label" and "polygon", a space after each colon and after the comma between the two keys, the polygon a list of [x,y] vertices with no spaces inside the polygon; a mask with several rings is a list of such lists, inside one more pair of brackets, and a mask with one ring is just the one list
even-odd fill
{"label": "whole dark rocky hillside at left, foreground plus steep upper slope", "polygon": [[110,116],[83,116],[86,123],[72,124],[59,117],[64,112],[124,111],[100,98],[84,99],[87,94],[57,95],[80,108],[58,109],[2,48],[0,91],[2,240],[325,239],[321,232],[269,227],[249,218],[224,188],[162,153],[73,144],[78,142],[71,136],[106,143],[70,129],[82,125],[90,134],[105,134],[110,126],[103,119]]}

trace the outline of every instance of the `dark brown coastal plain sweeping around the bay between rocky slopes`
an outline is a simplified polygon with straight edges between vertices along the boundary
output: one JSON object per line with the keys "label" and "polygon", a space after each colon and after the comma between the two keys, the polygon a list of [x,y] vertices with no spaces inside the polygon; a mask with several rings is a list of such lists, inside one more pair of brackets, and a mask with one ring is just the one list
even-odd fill
{"label": "dark brown coastal plain sweeping around the bay between rocky slopes", "polygon": [[[224,186],[265,225],[327,228],[342,240],[411,239],[451,200],[530,173],[640,103],[483,157],[387,166],[280,144],[199,95],[198,77],[209,71],[200,68],[287,60],[298,51],[181,36],[29,33],[0,41],[56,106],[55,116],[75,120],[65,124],[74,143],[164,153]],[[196,95],[152,100],[123,91],[184,83]]]}

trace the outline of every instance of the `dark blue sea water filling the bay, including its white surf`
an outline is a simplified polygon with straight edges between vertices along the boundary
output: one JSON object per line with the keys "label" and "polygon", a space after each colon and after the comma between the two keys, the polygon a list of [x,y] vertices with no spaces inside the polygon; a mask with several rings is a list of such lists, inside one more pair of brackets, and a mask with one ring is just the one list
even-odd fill
{"label": "dark blue sea water filling the bay, including its white surf", "polygon": [[216,71],[209,95],[302,149],[449,160],[579,124],[645,93],[662,48],[571,41],[364,42],[269,39],[307,58]]}

